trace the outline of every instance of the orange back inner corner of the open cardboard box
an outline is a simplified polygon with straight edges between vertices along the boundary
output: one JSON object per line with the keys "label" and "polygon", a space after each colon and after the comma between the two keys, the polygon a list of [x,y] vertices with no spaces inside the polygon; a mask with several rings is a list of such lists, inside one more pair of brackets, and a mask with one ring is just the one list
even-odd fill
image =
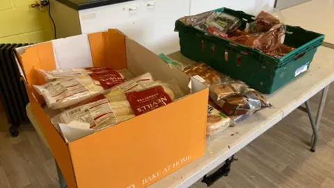
{"label": "orange back inner corner of the open cardboard box", "polygon": [[125,36],[122,33],[109,29],[108,32],[90,33],[88,39],[95,67],[127,68]]}

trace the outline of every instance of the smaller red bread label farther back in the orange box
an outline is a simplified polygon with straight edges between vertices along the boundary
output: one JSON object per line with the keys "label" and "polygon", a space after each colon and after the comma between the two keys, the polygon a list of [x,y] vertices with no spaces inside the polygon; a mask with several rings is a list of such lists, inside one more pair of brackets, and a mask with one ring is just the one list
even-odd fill
{"label": "smaller red bread label farther back in the orange box", "polygon": [[113,86],[122,84],[125,81],[125,79],[123,79],[120,73],[116,70],[94,72],[93,74],[90,74],[90,77],[100,81],[100,84],[104,89],[112,88]]}

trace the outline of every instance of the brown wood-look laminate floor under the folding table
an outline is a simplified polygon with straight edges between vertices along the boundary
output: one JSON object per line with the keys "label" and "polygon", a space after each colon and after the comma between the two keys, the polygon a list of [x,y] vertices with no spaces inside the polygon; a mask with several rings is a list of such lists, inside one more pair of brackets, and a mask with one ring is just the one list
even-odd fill
{"label": "brown wood-look laminate floor under the folding table", "polygon": [[[330,88],[317,151],[309,151],[312,133],[307,114],[296,110],[237,153],[223,187],[334,187],[334,84]],[[317,110],[319,93],[312,97]],[[60,187],[51,152],[30,124],[10,137],[6,118],[0,115],[0,188]],[[197,182],[191,188],[206,187]]]}

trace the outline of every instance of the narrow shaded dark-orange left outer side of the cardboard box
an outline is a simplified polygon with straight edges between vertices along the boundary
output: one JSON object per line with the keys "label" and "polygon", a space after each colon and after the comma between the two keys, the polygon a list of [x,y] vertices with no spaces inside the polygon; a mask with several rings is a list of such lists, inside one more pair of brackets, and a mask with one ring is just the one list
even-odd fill
{"label": "narrow shaded dark-orange left outer side of the cardboard box", "polygon": [[45,133],[47,143],[49,143],[58,166],[63,173],[63,176],[67,182],[67,186],[70,188],[77,187],[77,183],[74,178],[74,171],[72,168],[72,161],[70,159],[70,151],[68,150],[65,141],[63,141],[63,138],[58,133],[56,128],[54,128],[54,125],[51,124],[49,117],[45,114],[42,107],[40,107],[40,104],[35,100],[27,84],[26,91],[31,103],[31,109],[35,113],[42,131]]}

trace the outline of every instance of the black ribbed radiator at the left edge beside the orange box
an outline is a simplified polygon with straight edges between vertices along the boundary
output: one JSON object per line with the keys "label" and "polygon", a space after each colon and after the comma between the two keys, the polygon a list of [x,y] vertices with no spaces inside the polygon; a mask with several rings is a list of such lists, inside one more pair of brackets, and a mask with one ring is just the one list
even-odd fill
{"label": "black ribbed radiator at the left edge beside the orange box", "polygon": [[14,56],[14,49],[24,45],[28,44],[0,44],[0,98],[12,136],[17,136],[17,127],[29,120],[26,116],[29,99]]}

